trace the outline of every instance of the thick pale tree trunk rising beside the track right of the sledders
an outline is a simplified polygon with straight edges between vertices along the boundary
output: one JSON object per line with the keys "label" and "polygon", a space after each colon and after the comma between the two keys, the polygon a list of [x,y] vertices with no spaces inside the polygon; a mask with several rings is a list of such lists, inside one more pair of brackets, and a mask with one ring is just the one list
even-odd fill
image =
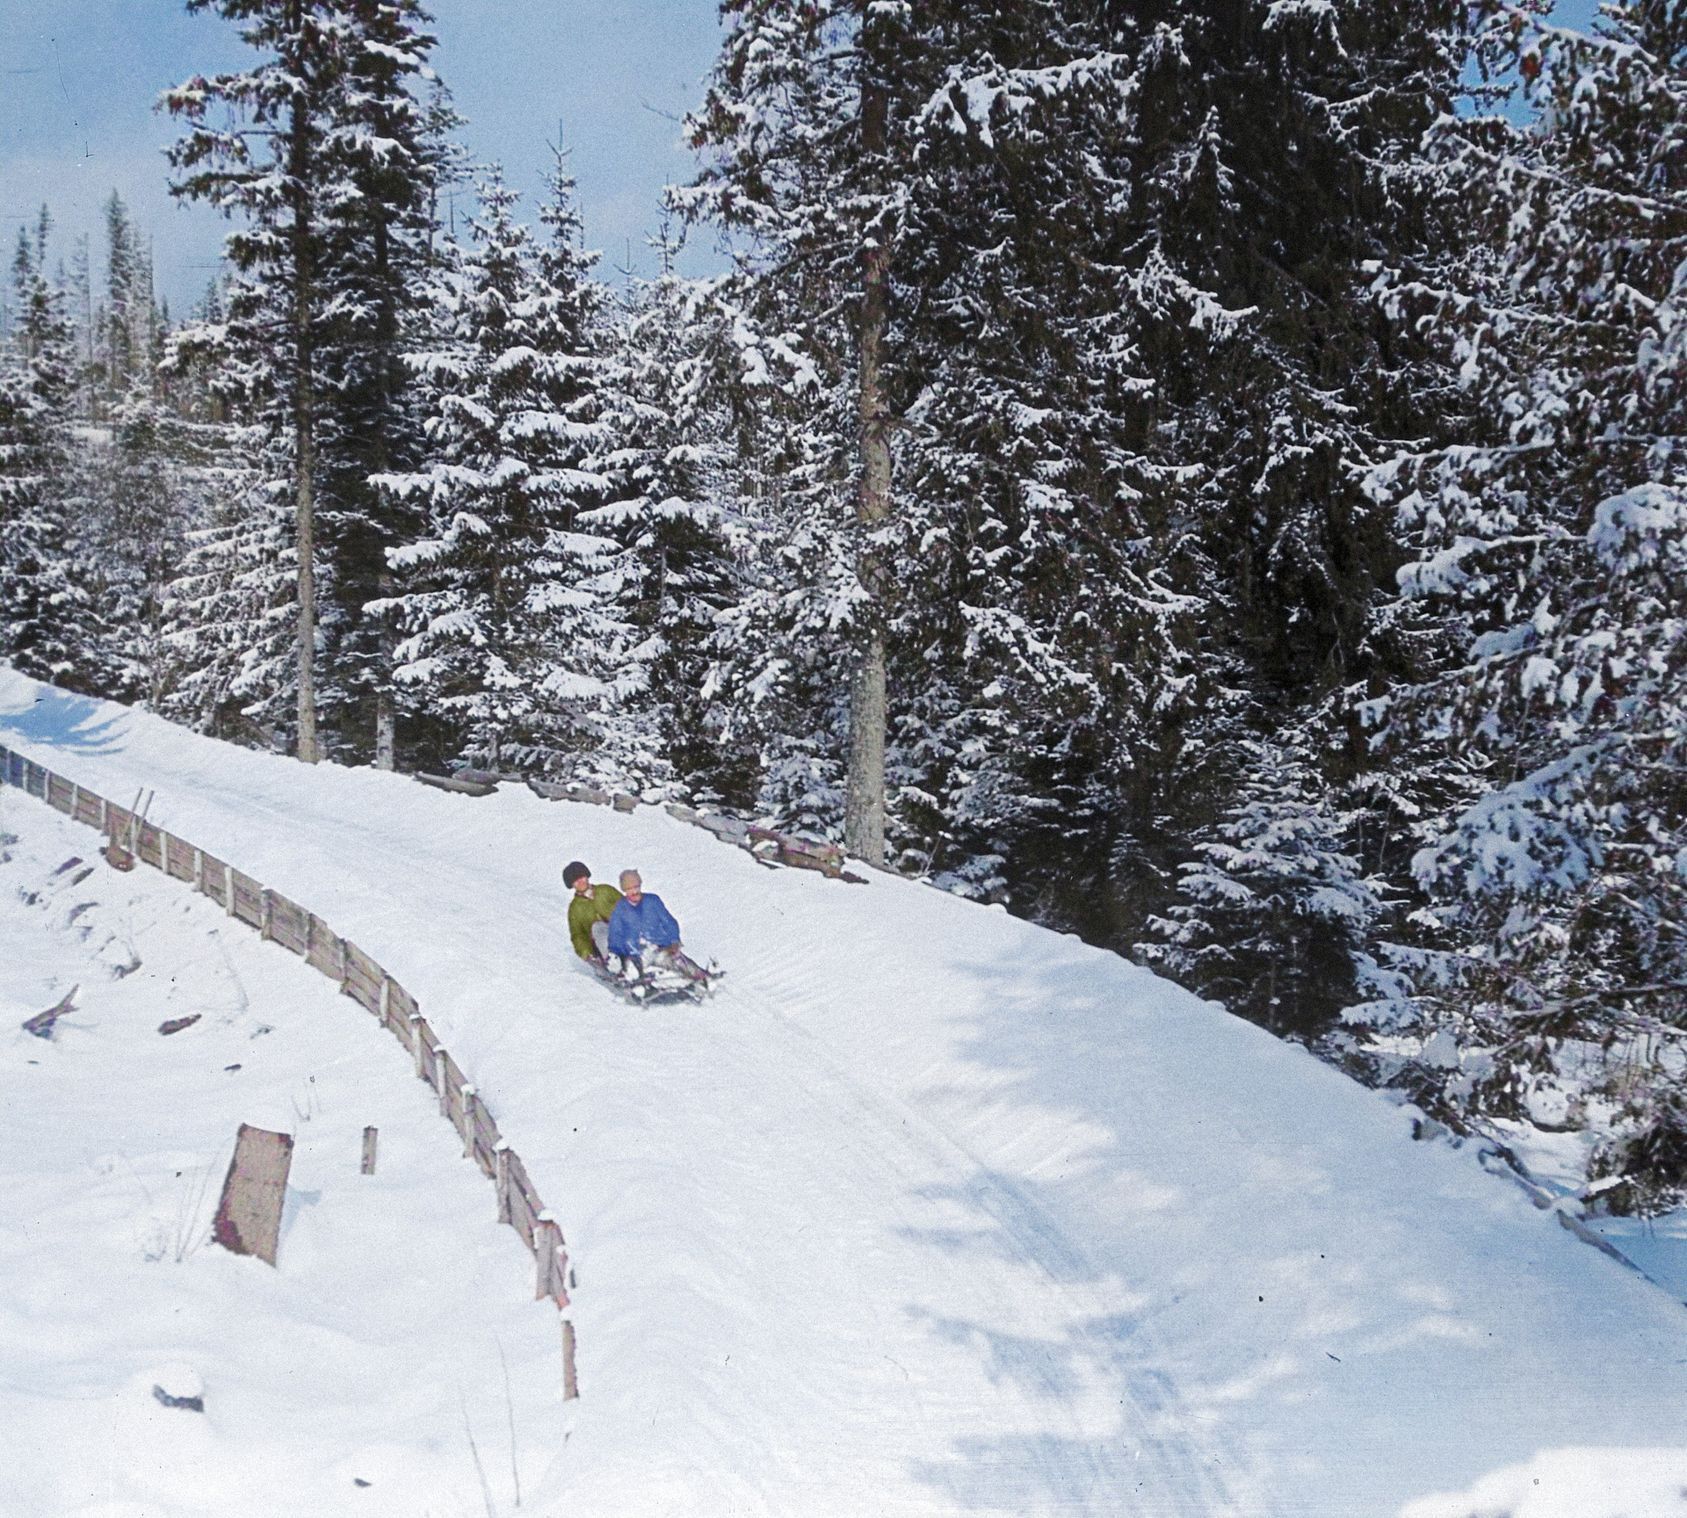
{"label": "thick pale tree trunk rising beside the track right of the sledders", "polygon": [[[884,153],[889,96],[882,84],[862,88],[860,132],[869,159]],[[860,300],[860,494],[855,519],[862,533],[857,575],[867,592],[857,638],[855,678],[849,710],[849,781],[844,805],[844,847],[877,869],[884,867],[884,563],[870,541],[891,516],[891,432],[884,398],[884,332],[891,309],[889,231],[874,228],[862,248]]]}

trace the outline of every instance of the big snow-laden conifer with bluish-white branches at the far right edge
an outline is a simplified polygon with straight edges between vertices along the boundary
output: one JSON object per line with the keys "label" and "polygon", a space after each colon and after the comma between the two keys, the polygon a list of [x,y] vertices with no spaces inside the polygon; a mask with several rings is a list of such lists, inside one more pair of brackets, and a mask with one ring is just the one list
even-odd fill
{"label": "big snow-laden conifer with bluish-white branches at the far right edge", "polygon": [[1478,19],[1539,116],[1442,125],[1486,241],[1383,285],[1464,425],[1378,476],[1453,651],[1377,713],[1463,784],[1415,860],[1415,993],[1366,1015],[1468,1118],[1581,1110],[1606,1199],[1648,1209],[1687,1196],[1687,8]]}

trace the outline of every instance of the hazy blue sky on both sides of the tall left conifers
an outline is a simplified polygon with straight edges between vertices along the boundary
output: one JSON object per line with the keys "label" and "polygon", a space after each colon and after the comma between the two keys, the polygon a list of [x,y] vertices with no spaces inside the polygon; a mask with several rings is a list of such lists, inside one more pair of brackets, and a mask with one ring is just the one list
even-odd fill
{"label": "hazy blue sky on both sides of the tall left conifers", "polygon": [[[479,159],[538,186],[562,123],[585,233],[606,263],[649,266],[661,187],[690,172],[678,116],[702,96],[720,37],[715,0],[435,0],[435,66]],[[159,91],[250,54],[179,0],[0,0],[0,238],[49,202],[69,238],[96,231],[115,187],[154,236],[160,290],[181,309],[216,270],[224,223],[165,192],[172,121]],[[100,238],[94,238],[100,260]],[[705,248],[695,263],[709,260]]]}

